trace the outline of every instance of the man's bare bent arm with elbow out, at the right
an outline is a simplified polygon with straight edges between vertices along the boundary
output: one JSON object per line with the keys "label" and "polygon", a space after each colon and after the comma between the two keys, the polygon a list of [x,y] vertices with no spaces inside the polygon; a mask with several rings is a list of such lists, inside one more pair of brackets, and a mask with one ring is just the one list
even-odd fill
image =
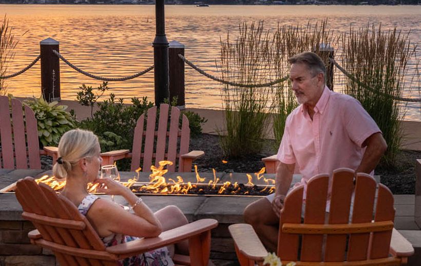
{"label": "man's bare bent arm with elbow out, at the right", "polygon": [[387,149],[387,144],[381,133],[375,133],[367,138],[367,148],[362,156],[361,163],[356,169],[357,173],[370,174],[376,168],[381,156]]}

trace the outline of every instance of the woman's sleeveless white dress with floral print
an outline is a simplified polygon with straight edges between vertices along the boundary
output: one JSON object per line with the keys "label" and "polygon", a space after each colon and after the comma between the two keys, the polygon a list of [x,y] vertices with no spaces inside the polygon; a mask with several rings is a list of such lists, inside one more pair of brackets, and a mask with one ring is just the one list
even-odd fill
{"label": "woman's sleeveless white dress with floral print", "polygon": [[[87,195],[78,206],[79,212],[86,216],[89,208],[92,206],[92,203],[97,199],[97,196],[90,194]],[[112,245],[118,245],[139,239],[139,237],[126,236],[123,234],[111,234],[101,239],[104,242],[105,247],[111,247]],[[168,249],[164,247],[120,260],[119,266],[174,266],[174,262],[169,256]]]}

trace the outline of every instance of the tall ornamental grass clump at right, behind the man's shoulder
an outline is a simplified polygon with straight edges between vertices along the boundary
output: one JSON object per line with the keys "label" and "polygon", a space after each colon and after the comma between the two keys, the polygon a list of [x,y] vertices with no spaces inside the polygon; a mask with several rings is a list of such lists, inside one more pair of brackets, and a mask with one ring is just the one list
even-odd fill
{"label": "tall ornamental grass clump at right, behind the man's shoulder", "polygon": [[382,31],[381,25],[378,29],[374,25],[359,30],[351,27],[341,39],[342,67],[350,74],[344,92],[358,99],[376,121],[388,145],[380,166],[392,167],[403,137],[399,121],[405,115],[399,112],[397,98],[408,86],[408,62],[417,60],[415,47],[408,35],[396,28]]}

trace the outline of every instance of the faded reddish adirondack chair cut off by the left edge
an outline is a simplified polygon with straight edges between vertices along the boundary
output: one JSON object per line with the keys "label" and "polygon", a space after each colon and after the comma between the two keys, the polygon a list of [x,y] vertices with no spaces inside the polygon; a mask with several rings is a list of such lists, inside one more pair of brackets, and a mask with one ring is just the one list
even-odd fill
{"label": "faded reddish adirondack chair cut off by the left edge", "polygon": [[40,155],[50,155],[56,160],[56,148],[40,150],[35,115],[31,108],[18,99],[0,96],[0,140],[2,151],[0,169],[41,169]]}

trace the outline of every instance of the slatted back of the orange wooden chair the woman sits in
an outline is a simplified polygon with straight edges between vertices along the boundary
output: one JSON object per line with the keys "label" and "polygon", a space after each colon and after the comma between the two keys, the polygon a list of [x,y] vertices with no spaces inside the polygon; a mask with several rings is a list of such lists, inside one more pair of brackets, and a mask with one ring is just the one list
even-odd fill
{"label": "slatted back of the orange wooden chair the woman sits in", "polygon": [[22,216],[42,235],[34,242],[51,249],[60,265],[117,265],[86,217],[49,186],[26,177],[17,182],[16,198],[24,210]]}

